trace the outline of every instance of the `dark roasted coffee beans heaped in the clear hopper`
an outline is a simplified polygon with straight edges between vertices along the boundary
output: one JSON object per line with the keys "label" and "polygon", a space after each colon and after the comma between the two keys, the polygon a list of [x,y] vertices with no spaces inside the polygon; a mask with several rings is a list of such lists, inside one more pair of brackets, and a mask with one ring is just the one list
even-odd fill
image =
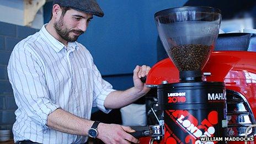
{"label": "dark roasted coffee beans heaped in the clear hopper", "polygon": [[212,46],[188,44],[173,46],[170,56],[179,71],[200,71],[210,56]]}

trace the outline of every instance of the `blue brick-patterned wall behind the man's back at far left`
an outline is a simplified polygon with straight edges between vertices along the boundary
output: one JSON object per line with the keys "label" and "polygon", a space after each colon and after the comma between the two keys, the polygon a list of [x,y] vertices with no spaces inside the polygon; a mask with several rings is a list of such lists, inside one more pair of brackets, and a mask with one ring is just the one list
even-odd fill
{"label": "blue brick-patterned wall behind the man's back at far left", "polygon": [[14,46],[36,29],[0,22],[0,130],[12,130],[15,104],[12,86],[7,76],[7,65]]}

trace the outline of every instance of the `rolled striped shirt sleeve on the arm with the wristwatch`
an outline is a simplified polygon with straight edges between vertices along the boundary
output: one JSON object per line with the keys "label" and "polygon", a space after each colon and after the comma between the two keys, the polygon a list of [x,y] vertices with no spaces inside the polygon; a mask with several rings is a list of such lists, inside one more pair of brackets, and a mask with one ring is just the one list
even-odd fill
{"label": "rolled striped shirt sleeve on the arm with the wristwatch", "polygon": [[60,106],[51,102],[43,65],[33,53],[33,49],[23,42],[15,48],[8,64],[8,77],[15,102],[18,109],[24,110],[45,132],[49,129],[46,125],[47,116]]}

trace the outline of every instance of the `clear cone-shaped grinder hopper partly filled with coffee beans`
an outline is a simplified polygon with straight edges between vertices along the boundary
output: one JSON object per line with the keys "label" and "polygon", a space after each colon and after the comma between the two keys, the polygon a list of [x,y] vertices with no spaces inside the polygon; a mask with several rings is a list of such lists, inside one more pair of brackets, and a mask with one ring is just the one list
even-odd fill
{"label": "clear cone-shaped grinder hopper partly filled with coffee beans", "polygon": [[220,28],[220,10],[180,7],[154,14],[159,37],[177,66],[181,82],[201,81],[201,70],[210,57]]}

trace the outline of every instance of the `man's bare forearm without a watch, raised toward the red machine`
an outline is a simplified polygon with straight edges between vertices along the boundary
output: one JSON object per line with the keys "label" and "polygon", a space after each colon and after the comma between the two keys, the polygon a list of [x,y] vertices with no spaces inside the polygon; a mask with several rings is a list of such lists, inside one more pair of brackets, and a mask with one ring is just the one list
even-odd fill
{"label": "man's bare forearm without a watch, raised toward the red machine", "polygon": [[108,109],[122,108],[132,102],[135,102],[143,95],[145,95],[145,93],[140,93],[140,91],[134,87],[124,91],[117,90],[109,93],[108,97],[105,99],[104,106]]}

